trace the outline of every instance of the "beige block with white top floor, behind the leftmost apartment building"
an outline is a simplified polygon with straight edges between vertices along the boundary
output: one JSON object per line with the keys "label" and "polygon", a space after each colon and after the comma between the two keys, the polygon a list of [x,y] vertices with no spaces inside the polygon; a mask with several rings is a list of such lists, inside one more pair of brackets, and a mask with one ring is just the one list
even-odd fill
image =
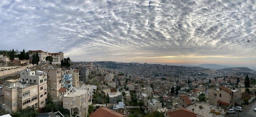
{"label": "beige block with white top floor, behind the leftmost apartment building", "polygon": [[20,81],[30,84],[37,84],[38,88],[38,107],[46,105],[47,99],[47,73],[43,71],[20,71]]}

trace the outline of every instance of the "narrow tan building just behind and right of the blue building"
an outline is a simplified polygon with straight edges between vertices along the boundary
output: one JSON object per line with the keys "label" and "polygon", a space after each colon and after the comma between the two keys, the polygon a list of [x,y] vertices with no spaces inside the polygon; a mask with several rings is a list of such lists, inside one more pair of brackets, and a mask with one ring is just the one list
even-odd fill
{"label": "narrow tan building just behind and right of the blue building", "polygon": [[63,71],[66,74],[72,74],[72,86],[79,86],[79,70],[76,69],[68,69]]}

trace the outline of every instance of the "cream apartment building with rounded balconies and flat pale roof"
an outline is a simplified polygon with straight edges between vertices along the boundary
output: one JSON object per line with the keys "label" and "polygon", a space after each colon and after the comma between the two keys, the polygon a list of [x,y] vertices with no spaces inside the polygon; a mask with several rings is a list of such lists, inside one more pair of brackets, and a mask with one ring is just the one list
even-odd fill
{"label": "cream apartment building with rounded balconies and flat pale roof", "polygon": [[73,87],[63,96],[63,108],[70,111],[70,117],[87,117],[89,92],[84,88]]}

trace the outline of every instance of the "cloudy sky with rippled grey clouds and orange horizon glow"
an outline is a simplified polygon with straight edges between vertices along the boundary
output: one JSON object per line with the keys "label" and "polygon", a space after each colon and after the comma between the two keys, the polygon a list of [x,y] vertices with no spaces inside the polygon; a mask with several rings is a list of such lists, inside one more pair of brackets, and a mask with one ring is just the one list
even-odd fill
{"label": "cloudy sky with rippled grey clouds and orange horizon glow", "polygon": [[0,50],[253,67],[255,24],[253,0],[0,0]]}

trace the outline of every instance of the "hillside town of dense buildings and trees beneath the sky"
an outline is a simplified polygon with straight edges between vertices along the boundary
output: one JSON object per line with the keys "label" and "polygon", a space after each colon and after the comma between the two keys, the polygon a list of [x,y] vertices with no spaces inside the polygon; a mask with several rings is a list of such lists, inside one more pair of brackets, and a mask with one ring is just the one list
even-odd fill
{"label": "hillside town of dense buildings and trees beneath the sky", "polygon": [[2,50],[0,61],[1,115],[12,117],[250,117],[256,107],[247,67],[75,62],[43,50]]}

